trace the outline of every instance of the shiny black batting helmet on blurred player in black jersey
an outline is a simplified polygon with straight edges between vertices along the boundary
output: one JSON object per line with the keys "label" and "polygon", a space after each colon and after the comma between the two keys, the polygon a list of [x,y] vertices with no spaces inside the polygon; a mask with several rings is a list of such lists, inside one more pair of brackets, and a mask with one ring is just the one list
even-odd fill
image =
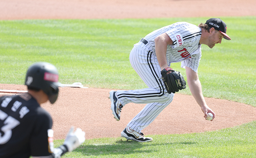
{"label": "shiny black batting helmet on blurred player in black jersey", "polygon": [[37,62],[28,68],[25,85],[43,90],[53,104],[59,94],[58,79],[59,73],[55,66],[47,62]]}

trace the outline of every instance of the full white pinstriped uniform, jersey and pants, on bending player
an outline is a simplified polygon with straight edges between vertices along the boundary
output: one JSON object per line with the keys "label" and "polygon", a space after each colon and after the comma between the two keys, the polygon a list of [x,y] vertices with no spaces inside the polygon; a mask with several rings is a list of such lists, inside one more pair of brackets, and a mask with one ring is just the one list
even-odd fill
{"label": "full white pinstriped uniform, jersey and pants, on bending player", "polygon": [[[133,69],[146,83],[148,88],[137,90],[118,90],[116,96],[124,106],[127,103],[146,103],[146,106],[138,113],[127,126],[136,132],[146,128],[161,111],[169,105],[174,94],[167,93],[161,77],[161,68],[155,54],[155,38],[167,33],[173,45],[167,46],[167,63],[181,62],[185,66],[197,72],[201,59],[201,28],[194,24],[178,22],[155,30],[145,36],[146,41],[136,43],[130,53],[130,62]],[[146,44],[145,44],[146,43]]]}

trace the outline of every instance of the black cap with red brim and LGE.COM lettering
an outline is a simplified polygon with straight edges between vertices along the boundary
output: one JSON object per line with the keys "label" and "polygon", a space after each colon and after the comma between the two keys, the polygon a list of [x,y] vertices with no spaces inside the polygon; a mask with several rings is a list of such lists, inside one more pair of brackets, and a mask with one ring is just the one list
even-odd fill
{"label": "black cap with red brim and LGE.COM lettering", "polygon": [[224,35],[224,39],[231,40],[231,38],[226,34],[227,25],[220,18],[211,18],[206,21],[209,27],[213,27],[215,30],[220,31]]}

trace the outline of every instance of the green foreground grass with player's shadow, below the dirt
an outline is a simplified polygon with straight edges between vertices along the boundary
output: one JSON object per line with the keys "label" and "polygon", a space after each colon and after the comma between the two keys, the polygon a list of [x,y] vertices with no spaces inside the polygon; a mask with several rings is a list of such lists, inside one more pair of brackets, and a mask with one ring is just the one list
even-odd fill
{"label": "green foreground grass with player's shadow, below the dirt", "polygon": [[[256,121],[214,132],[147,135],[149,143],[125,138],[86,140],[68,158],[256,158]],[[63,144],[55,141],[55,147]]]}

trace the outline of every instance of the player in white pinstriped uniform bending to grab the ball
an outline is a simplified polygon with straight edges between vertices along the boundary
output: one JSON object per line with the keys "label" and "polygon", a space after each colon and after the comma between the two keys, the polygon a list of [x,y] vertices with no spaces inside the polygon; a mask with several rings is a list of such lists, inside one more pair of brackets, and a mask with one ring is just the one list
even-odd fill
{"label": "player in white pinstriped uniform bending to grab the ball", "polygon": [[174,94],[167,93],[160,78],[161,70],[174,62],[181,62],[181,67],[186,69],[188,86],[204,117],[212,113],[214,119],[215,113],[203,97],[197,69],[201,59],[201,44],[212,48],[221,43],[222,38],[231,40],[226,30],[226,24],[217,18],[211,18],[198,26],[178,22],[151,32],[134,45],[130,62],[148,88],[110,91],[111,109],[114,118],[119,121],[121,109],[127,103],[146,103],[146,106],[127,124],[121,137],[139,142],[153,140],[145,137],[141,130],[153,122],[173,100]]}

